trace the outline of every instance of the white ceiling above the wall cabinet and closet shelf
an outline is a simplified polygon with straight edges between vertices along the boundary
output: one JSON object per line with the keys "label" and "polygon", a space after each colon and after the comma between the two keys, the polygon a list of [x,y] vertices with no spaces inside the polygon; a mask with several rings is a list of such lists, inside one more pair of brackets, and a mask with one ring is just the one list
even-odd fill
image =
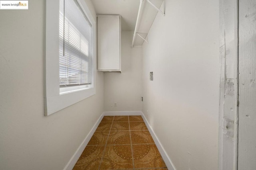
{"label": "white ceiling above the wall cabinet and closet shelf", "polygon": [[134,31],[140,0],[91,0],[96,14],[121,15],[122,30]]}

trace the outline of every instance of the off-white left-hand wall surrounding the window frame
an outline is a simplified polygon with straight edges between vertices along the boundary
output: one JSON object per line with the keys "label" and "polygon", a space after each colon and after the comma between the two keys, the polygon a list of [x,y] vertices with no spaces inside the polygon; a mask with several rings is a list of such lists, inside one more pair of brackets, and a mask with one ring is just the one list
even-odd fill
{"label": "off-white left-hand wall surrounding the window frame", "polygon": [[45,15],[45,0],[0,10],[1,170],[62,170],[103,112],[97,72],[96,95],[44,116]]}

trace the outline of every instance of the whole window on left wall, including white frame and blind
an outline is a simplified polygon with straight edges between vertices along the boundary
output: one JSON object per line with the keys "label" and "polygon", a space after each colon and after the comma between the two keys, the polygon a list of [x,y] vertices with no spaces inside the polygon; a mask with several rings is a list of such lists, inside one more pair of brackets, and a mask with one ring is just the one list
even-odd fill
{"label": "whole window on left wall, including white frame and blind", "polygon": [[45,115],[95,94],[95,21],[83,0],[46,0]]}

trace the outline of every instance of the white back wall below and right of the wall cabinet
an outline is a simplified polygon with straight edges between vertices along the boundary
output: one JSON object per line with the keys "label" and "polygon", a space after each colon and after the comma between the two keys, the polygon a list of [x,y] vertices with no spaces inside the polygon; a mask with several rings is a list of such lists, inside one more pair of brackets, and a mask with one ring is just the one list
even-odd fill
{"label": "white back wall below and right of the wall cabinet", "polygon": [[141,111],[142,49],[131,47],[132,35],[122,31],[122,73],[104,73],[104,111]]}

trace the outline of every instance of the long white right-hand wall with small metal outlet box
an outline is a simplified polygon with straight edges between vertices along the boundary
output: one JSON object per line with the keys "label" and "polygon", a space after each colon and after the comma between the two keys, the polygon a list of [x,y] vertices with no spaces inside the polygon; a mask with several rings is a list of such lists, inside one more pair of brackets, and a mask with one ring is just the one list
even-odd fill
{"label": "long white right-hand wall with small metal outlet box", "polygon": [[177,170],[218,169],[218,9],[167,0],[143,45],[142,111]]}

